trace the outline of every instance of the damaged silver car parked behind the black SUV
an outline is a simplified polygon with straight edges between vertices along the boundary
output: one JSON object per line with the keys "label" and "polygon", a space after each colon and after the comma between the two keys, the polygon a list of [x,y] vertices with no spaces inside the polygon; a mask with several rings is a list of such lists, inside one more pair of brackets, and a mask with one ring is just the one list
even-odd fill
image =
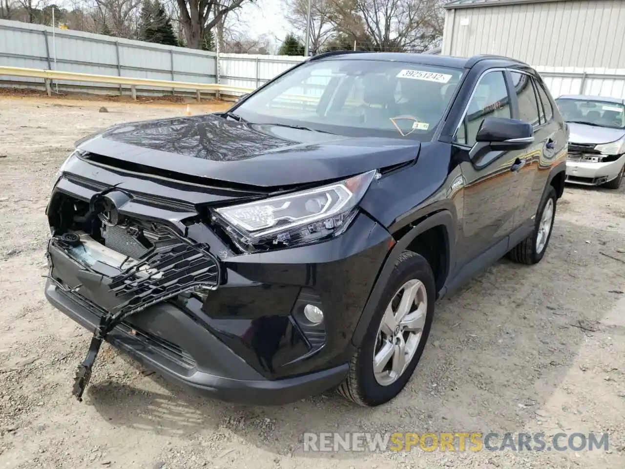
{"label": "damaged silver car parked behind the black SUV", "polygon": [[625,101],[599,96],[560,96],[569,126],[566,182],[618,189],[625,170]]}

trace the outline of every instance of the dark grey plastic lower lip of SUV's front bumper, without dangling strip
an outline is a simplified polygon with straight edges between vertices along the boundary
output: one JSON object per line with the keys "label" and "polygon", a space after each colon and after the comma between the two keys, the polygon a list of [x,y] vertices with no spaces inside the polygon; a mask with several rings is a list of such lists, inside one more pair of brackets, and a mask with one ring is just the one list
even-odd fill
{"label": "dark grey plastic lower lip of SUV's front bumper, without dangling strip", "polygon": [[[99,321],[97,310],[89,308],[76,295],[64,291],[51,281],[47,281],[45,294],[54,307],[79,325],[94,331]],[[128,323],[116,326],[106,341],[169,381],[203,395],[237,403],[280,405],[326,391],[339,385],[347,375],[348,366],[344,364],[294,378],[267,380],[217,338],[202,333],[197,323],[176,306],[163,303],[145,313],[144,316],[150,317],[151,328],[168,330],[168,335],[174,338],[185,336],[185,346],[193,349],[193,355],[198,351],[196,347],[201,346],[202,363],[194,362],[187,351],[154,340],[152,335],[136,331]],[[202,369],[206,363],[212,363],[221,373]]]}

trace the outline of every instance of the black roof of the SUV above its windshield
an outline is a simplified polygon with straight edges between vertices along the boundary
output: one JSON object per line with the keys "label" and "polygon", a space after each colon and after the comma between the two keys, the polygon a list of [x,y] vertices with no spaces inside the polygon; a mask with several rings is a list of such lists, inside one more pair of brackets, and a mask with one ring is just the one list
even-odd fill
{"label": "black roof of the SUV above its windshield", "polygon": [[310,58],[311,61],[323,59],[364,59],[397,61],[413,64],[424,64],[452,68],[472,68],[477,63],[492,63],[497,67],[526,66],[526,64],[503,56],[479,55],[470,58],[441,56],[434,54],[413,54],[405,52],[364,52],[364,51],[331,51]]}

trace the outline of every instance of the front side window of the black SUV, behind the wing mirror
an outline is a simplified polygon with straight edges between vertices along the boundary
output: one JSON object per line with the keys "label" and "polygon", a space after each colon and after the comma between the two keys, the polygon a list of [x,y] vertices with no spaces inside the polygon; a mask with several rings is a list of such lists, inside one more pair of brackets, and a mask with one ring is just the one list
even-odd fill
{"label": "front side window of the black SUV, behind the wing mirror", "polygon": [[477,131],[487,117],[511,117],[510,99],[502,72],[487,73],[477,83],[464,121],[456,133],[456,142],[473,146]]}

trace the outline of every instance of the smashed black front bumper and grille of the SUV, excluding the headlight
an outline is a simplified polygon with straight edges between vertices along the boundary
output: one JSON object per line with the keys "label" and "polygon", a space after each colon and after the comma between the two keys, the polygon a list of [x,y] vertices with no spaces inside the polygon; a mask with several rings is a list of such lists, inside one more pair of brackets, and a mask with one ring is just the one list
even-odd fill
{"label": "smashed black front bumper and grille of the SUV, excluding the headlight", "polygon": [[[224,400],[294,401],[339,384],[389,235],[358,214],[343,235],[241,253],[205,207],[258,198],[137,177],[74,158],[47,208],[46,296],[94,332],[81,398],[106,340],[180,384]],[[306,322],[306,305],[326,313]]]}

